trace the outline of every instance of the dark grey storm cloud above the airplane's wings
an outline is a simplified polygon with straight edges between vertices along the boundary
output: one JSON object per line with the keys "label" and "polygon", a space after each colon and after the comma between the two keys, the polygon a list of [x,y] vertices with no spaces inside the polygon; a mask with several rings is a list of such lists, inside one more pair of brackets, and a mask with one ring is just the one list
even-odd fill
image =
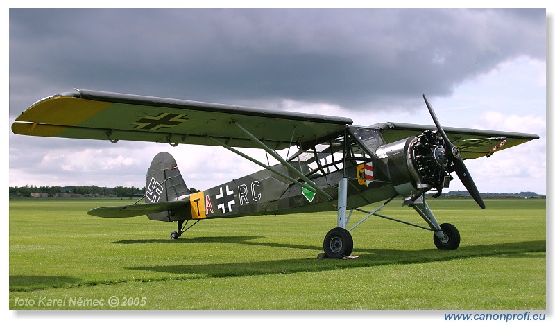
{"label": "dark grey storm cloud above the airplane's wings", "polygon": [[348,109],[545,60],[545,10],[10,10],[10,111],[72,87]]}

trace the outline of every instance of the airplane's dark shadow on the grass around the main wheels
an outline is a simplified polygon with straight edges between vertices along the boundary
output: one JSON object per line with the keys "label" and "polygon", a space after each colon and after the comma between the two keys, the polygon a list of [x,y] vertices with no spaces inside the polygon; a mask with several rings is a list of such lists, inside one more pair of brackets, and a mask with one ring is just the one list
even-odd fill
{"label": "airplane's dark shadow on the grass around the main wheels", "polygon": [[[402,250],[402,249],[357,249],[360,257],[356,260],[321,260],[316,258],[316,254],[321,251],[319,246],[295,245],[284,243],[261,243],[251,242],[260,237],[254,236],[230,236],[230,237],[199,237],[189,240],[160,240],[164,243],[233,243],[255,246],[284,247],[289,249],[308,249],[314,250],[314,257],[293,258],[282,260],[267,260],[257,262],[237,262],[237,263],[211,263],[200,265],[159,265],[159,266],[137,266],[128,267],[129,270],[146,270],[171,274],[182,274],[187,277],[191,274],[205,274],[211,277],[225,276],[250,276],[262,274],[287,274],[296,272],[311,272],[336,270],[337,268],[350,267],[372,267],[377,265],[393,264],[416,264],[438,261],[452,261],[464,258],[475,257],[528,257],[527,253],[545,252],[545,240],[525,241],[518,243],[501,243],[490,245],[475,245],[459,247],[456,251],[438,251],[437,249],[422,250]],[[158,240],[125,240],[123,243],[151,243]],[[122,243],[122,242],[118,242]],[[239,257],[240,259],[240,257]]]}

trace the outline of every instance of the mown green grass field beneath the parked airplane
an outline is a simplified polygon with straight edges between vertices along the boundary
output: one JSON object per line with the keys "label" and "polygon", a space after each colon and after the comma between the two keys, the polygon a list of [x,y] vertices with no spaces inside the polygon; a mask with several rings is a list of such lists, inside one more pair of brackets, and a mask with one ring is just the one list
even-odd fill
{"label": "mown green grass field beneath the parked airplane", "polygon": [[[428,200],[456,251],[373,217],[352,231],[354,260],[316,258],[335,213],[203,220],[180,240],[175,222],[86,214],[130,202],[10,200],[9,308],[547,308],[545,200]],[[400,201],[382,213],[423,224]]]}

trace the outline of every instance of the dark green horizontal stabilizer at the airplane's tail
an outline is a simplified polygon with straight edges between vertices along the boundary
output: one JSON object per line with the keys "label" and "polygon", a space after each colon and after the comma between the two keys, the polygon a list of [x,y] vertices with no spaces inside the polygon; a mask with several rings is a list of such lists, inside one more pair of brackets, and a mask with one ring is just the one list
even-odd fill
{"label": "dark green horizontal stabilizer at the airplane's tail", "polygon": [[90,210],[87,214],[102,218],[128,218],[177,209],[179,207],[184,207],[187,204],[189,204],[189,200],[130,204],[119,207],[100,207]]}

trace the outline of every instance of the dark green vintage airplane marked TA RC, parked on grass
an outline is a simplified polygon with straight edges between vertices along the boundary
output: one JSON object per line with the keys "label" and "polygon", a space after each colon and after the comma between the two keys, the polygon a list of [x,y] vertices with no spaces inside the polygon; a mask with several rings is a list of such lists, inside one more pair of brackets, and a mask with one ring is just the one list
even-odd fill
{"label": "dark green vintage airplane marked TA RC, parked on grass", "polygon": [[[12,124],[15,134],[74,139],[148,141],[221,146],[263,169],[205,191],[190,191],[176,160],[155,155],[146,175],[146,193],[135,204],[99,207],[87,213],[104,218],[146,215],[178,222],[170,238],[178,239],[200,220],[336,211],[337,225],[323,240],[325,258],[349,258],[352,229],[370,216],[386,218],[434,233],[438,249],[459,247],[459,230],[440,224],[426,194],[441,195],[461,179],[485,209],[465,159],[539,139],[536,134],[443,128],[423,95],[434,125],[377,123],[353,125],[350,118],[278,112],[105,91],[79,90],[49,96],[26,109]],[[241,148],[259,148],[277,159],[259,161]],[[282,157],[276,150],[296,148]],[[378,213],[395,197],[413,208],[427,227]],[[144,199],[145,203],[139,203]],[[373,211],[361,209],[381,202]],[[351,227],[353,212],[364,218]],[[187,227],[189,221],[192,225]]]}

